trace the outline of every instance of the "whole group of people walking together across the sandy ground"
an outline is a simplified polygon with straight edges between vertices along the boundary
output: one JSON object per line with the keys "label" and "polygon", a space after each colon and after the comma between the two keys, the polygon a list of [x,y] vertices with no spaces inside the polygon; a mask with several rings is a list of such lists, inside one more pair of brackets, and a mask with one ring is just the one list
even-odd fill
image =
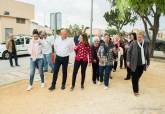
{"label": "whole group of people walking together across the sandy ground", "polygon": [[[82,33],[75,41],[69,39],[67,30],[62,29],[60,37],[52,41],[46,32],[33,31],[32,40],[29,45],[30,54],[30,79],[27,91],[32,90],[35,70],[38,69],[41,78],[41,87],[45,87],[44,72],[48,72],[48,65],[53,73],[50,91],[56,88],[58,72],[62,66],[62,85],[66,87],[69,55],[75,52],[74,68],[72,73],[72,84],[70,90],[73,91],[76,85],[76,77],[81,66],[81,89],[84,89],[86,69],[92,65],[93,84],[104,84],[104,89],[109,88],[109,80],[112,79],[111,71],[116,71],[118,61],[120,68],[127,68],[125,80],[132,79],[133,92],[139,95],[139,79],[143,71],[150,64],[148,44],[144,41],[144,32],[139,31],[129,34],[124,43],[120,42],[120,37],[111,39],[105,33],[103,38],[94,37],[93,43],[89,42],[87,34]],[[10,49],[11,50],[11,49]],[[14,49],[13,49],[14,50]],[[52,63],[52,53],[55,52],[55,61]],[[12,65],[12,64],[11,64]],[[18,65],[16,63],[16,65]]]}

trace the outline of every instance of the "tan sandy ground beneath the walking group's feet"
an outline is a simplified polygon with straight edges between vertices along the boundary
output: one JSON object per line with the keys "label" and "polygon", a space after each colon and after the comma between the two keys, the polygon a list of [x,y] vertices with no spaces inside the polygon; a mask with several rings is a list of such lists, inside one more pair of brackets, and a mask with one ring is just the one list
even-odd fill
{"label": "tan sandy ground beneath the walking group's feet", "polygon": [[125,69],[112,73],[110,88],[93,85],[91,67],[88,68],[85,89],[80,89],[80,75],[70,92],[72,67],[69,67],[67,88],[62,91],[61,71],[57,89],[48,91],[52,75],[46,74],[46,87],[34,83],[32,91],[25,91],[23,80],[0,87],[0,114],[165,114],[165,63],[151,62],[141,78],[141,95],[132,93],[131,81],[125,81]]}

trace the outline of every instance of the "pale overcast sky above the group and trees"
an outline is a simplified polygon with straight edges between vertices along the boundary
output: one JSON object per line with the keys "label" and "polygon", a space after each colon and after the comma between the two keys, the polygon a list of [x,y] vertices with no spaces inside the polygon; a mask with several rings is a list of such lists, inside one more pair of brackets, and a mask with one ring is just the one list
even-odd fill
{"label": "pale overcast sky above the group and trees", "polygon": [[[70,24],[90,26],[90,0],[17,0],[31,3],[35,6],[35,22],[41,25],[50,26],[50,13],[62,13],[62,27],[68,27]],[[110,4],[107,0],[94,1],[94,20],[93,27],[106,29],[108,27],[103,15],[110,10]],[[165,17],[160,20],[160,29],[165,28]],[[144,28],[141,20],[138,20],[133,26],[126,26],[125,31],[131,31],[133,28]]]}

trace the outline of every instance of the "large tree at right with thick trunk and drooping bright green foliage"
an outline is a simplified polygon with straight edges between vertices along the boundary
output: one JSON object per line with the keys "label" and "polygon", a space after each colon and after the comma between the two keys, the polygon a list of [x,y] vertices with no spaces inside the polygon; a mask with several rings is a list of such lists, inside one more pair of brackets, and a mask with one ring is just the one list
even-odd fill
{"label": "large tree at right with thick trunk and drooping bright green foliage", "polygon": [[[165,14],[165,0],[109,0],[115,1],[116,7],[120,11],[121,17],[125,17],[125,12],[133,11],[143,21],[146,36],[150,41],[151,57],[153,57],[157,34],[159,32],[159,20]],[[152,31],[150,37],[149,31]]]}

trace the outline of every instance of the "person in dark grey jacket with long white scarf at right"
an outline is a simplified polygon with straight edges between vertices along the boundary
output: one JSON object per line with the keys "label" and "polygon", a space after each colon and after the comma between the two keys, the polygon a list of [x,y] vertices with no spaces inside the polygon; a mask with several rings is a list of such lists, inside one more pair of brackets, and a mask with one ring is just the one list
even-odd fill
{"label": "person in dark grey jacket with long white scarf at right", "polygon": [[135,96],[139,95],[139,79],[149,64],[149,47],[144,42],[144,32],[139,31],[137,41],[131,43],[127,52],[127,65],[132,71],[132,86]]}

